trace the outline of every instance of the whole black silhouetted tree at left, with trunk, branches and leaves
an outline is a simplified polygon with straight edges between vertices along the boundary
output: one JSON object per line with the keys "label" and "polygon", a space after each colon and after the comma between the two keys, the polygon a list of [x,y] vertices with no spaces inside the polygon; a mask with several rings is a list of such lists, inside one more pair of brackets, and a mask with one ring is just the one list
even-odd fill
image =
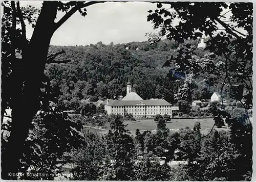
{"label": "whole black silhouetted tree at left, with trunk, branches and leaves", "polygon": [[[85,16],[85,8],[96,3],[100,2],[44,2],[40,11],[32,7],[22,9],[19,2],[3,3],[4,27],[2,33],[4,34],[2,36],[5,37],[5,40],[2,44],[4,47],[2,62],[5,63],[4,76],[7,76],[8,70],[12,72],[9,77],[12,91],[10,94],[7,93],[9,96],[2,102],[3,111],[7,107],[12,110],[11,133],[2,158],[5,159],[2,161],[2,169],[4,169],[2,176],[4,178],[15,179],[16,177],[8,177],[7,172],[17,173],[20,168],[19,159],[22,157],[23,145],[40,103],[38,98],[41,82],[45,77],[45,65],[56,61],[54,60],[56,56],[48,57],[48,48],[53,33],[76,11]],[[26,10],[31,13],[26,14]],[[58,10],[67,11],[67,13],[58,22],[55,22]],[[33,15],[38,12],[36,20]],[[26,38],[24,20],[28,20],[34,27],[29,41]],[[17,22],[21,25],[21,31],[16,27]],[[46,27],[47,29],[45,29]],[[22,58],[16,57],[15,49],[19,50]],[[60,62],[61,60],[58,63]],[[64,62],[68,61],[64,60]]]}

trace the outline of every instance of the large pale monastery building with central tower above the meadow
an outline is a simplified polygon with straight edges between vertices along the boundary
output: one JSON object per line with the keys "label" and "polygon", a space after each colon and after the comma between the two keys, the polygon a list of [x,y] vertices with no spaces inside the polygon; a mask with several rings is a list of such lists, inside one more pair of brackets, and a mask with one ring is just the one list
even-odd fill
{"label": "large pale monastery building with central tower above the meadow", "polygon": [[103,102],[106,112],[126,116],[132,114],[135,118],[153,118],[155,115],[173,115],[173,110],[177,112],[178,107],[172,105],[164,99],[143,100],[137,93],[132,92],[132,85],[129,82],[126,86],[126,96],[121,100],[107,99]]}

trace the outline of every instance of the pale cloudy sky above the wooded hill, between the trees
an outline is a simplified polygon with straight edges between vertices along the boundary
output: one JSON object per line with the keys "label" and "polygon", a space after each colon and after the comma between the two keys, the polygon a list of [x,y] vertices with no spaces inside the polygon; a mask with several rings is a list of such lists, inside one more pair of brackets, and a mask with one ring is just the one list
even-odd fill
{"label": "pale cloudy sky above the wooded hill, between the trees", "polygon": [[[20,1],[21,6],[32,5],[36,8],[42,2]],[[156,4],[144,2],[102,3],[87,7],[87,15],[76,12],[54,33],[52,45],[88,45],[102,41],[127,43],[146,41],[146,33],[154,32],[152,24],[147,22],[148,10],[156,9]],[[57,19],[64,13],[58,13]],[[26,25],[27,38],[33,29]]]}

